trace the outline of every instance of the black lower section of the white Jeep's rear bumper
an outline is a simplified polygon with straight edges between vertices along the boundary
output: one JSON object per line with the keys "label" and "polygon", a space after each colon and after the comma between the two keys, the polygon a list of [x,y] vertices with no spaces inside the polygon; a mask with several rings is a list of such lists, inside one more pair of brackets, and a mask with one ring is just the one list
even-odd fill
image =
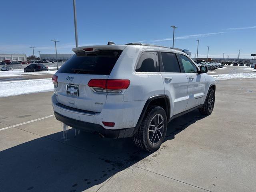
{"label": "black lower section of the white Jeep's rear bumper", "polygon": [[126,128],[126,129],[117,129],[117,130],[110,130],[105,129],[99,124],[84,122],[72,118],[68,118],[63,116],[57,112],[54,112],[54,115],[58,121],[76,129],[84,130],[86,132],[94,133],[94,134],[101,134],[106,138],[126,138],[132,137],[136,132],[136,128]]}

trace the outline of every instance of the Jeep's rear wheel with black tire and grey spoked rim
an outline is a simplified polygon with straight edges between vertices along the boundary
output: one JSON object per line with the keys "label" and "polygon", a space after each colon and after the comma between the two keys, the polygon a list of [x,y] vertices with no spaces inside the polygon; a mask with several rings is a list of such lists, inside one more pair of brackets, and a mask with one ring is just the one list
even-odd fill
{"label": "Jeep's rear wheel with black tire and grey spoked rim", "polygon": [[152,106],[147,110],[140,127],[134,134],[133,142],[142,150],[156,151],[164,142],[166,130],[166,112],[160,106]]}

